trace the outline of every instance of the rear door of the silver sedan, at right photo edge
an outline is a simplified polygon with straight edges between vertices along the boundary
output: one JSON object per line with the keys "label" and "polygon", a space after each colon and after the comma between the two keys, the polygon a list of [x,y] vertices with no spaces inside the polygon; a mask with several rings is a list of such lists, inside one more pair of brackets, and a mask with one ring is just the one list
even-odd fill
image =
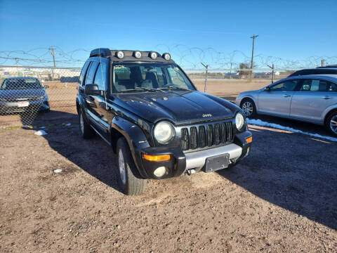
{"label": "rear door of the silver sedan, at right photo edge", "polygon": [[324,110],[337,103],[336,96],[329,92],[333,85],[326,79],[303,79],[291,101],[291,117],[322,122]]}

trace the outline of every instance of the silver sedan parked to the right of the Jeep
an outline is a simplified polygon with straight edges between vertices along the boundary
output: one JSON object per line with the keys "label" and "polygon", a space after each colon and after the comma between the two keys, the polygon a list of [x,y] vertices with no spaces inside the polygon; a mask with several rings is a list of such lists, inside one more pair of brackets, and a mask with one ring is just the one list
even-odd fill
{"label": "silver sedan parked to the right of the Jeep", "polygon": [[337,74],[288,77],[257,91],[245,91],[235,103],[246,117],[272,115],[325,125],[337,136]]}

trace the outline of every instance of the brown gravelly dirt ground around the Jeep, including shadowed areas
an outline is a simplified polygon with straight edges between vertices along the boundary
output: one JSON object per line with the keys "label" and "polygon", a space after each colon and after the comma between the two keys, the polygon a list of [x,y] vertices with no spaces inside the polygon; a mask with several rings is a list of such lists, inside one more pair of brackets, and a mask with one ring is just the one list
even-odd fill
{"label": "brown gravelly dirt ground around the Jeep, including shadowed areas", "polygon": [[237,167],[126,197],[111,148],[82,140],[77,115],[49,117],[46,136],[0,130],[0,252],[337,251],[336,143],[250,126]]}

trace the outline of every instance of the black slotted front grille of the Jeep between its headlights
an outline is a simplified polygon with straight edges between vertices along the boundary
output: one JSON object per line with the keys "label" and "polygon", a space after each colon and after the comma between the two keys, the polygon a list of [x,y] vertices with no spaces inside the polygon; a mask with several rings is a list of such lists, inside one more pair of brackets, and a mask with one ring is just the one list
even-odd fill
{"label": "black slotted front grille of the Jeep between its headlights", "polygon": [[[199,130],[199,131],[198,131]],[[211,147],[233,141],[232,122],[205,124],[181,129],[181,147],[183,150]]]}

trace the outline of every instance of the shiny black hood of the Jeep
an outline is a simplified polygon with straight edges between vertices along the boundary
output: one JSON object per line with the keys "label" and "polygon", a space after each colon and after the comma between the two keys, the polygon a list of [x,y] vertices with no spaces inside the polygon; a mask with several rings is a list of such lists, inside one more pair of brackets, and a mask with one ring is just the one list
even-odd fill
{"label": "shiny black hood of the Jeep", "polygon": [[200,91],[123,93],[114,103],[149,122],[168,119],[174,124],[191,124],[234,117],[239,110],[226,100]]}

